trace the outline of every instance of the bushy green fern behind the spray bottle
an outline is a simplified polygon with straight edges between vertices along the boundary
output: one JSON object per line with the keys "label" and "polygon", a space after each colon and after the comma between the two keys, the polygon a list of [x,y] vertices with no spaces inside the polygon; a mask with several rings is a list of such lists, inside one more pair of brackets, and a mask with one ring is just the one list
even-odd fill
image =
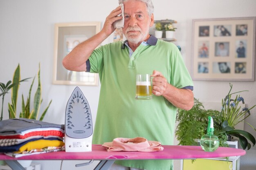
{"label": "bushy green fern behind the spray bottle", "polygon": [[[180,141],[179,145],[198,145],[198,140],[207,133],[208,116],[215,119],[220,118],[221,114],[217,110],[205,110],[198,99],[194,98],[194,106],[191,110],[177,110],[177,125],[175,135]],[[214,125],[214,134],[218,136],[220,146],[228,146],[227,135],[220,126]]]}

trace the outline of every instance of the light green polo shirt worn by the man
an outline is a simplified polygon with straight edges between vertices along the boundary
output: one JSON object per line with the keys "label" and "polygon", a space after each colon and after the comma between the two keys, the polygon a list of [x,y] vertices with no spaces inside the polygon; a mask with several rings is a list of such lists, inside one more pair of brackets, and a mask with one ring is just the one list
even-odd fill
{"label": "light green polo shirt worn by the man", "polygon": [[[93,144],[117,137],[145,137],[173,145],[177,108],[162,96],[136,100],[136,75],[160,71],[168,83],[193,90],[193,82],[175,44],[150,36],[129,57],[123,42],[95,49],[87,61],[87,71],[99,73],[101,90]],[[169,160],[126,160],[115,163],[146,170],[170,170]]]}

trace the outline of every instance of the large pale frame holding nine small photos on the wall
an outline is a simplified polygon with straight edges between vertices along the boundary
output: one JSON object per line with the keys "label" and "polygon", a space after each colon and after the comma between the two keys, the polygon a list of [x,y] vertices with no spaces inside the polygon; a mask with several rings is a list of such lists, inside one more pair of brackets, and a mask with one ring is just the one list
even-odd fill
{"label": "large pale frame holding nine small photos on the wall", "polygon": [[256,17],[193,20],[193,80],[254,81]]}

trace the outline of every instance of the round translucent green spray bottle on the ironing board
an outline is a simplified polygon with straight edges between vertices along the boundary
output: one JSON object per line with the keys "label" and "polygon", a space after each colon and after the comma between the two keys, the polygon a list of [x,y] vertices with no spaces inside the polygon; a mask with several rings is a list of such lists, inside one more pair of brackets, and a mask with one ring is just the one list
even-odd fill
{"label": "round translucent green spray bottle on the ironing board", "polygon": [[207,134],[203,135],[200,140],[200,145],[204,151],[213,152],[219,147],[220,141],[217,136],[213,135],[213,119],[208,117]]}

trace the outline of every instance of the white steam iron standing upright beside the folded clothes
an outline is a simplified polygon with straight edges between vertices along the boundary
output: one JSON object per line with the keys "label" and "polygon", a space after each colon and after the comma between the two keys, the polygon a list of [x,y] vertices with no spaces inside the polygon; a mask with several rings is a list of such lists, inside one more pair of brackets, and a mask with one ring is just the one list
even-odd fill
{"label": "white steam iron standing upright beside the folded clothes", "polygon": [[76,87],[67,102],[65,114],[65,151],[92,151],[92,115],[87,99]]}

